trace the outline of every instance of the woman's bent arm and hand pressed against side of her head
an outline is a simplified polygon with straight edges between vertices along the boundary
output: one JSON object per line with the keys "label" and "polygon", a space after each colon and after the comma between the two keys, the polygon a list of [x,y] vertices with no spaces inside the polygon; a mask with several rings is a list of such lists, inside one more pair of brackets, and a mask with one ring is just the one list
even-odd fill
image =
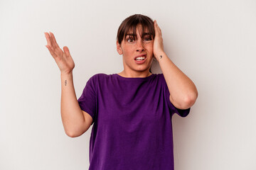
{"label": "woman's bent arm and hand pressed against side of her head", "polygon": [[170,92],[170,101],[180,109],[186,109],[193,106],[198,97],[198,91],[193,81],[186,74],[183,74],[178,67],[171,62],[164,52],[163,38],[161,29],[154,21],[155,38],[154,38],[154,57],[159,62],[161,71]]}

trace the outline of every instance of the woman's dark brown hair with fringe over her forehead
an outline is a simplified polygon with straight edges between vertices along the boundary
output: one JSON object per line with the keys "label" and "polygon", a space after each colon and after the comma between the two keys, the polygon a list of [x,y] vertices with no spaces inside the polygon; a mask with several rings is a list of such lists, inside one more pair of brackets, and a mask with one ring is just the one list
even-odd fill
{"label": "woman's dark brown hair with fringe over her forehead", "polygon": [[136,28],[138,25],[142,25],[142,35],[144,35],[145,30],[147,29],[151,38],[154,39],[155,31],[152,19],[142,14],[134,14],[124,19],[119,26],[117,31],[118,43],[121,45],[122,40],[128,35],[130,30],[132,30],[133,35],[136,35]]}

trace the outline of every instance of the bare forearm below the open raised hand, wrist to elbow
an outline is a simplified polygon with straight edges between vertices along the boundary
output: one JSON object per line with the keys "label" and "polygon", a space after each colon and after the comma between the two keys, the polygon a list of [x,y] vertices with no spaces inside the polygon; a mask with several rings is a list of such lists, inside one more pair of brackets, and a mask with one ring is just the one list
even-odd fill
{"label": "bare forearm below the open raised hand, wrist to elbow", "polygon": [[85,117],[78,104],[73,84],[73,74],[61,74],[60,112],[65,132],[68,136],[80,134]]}

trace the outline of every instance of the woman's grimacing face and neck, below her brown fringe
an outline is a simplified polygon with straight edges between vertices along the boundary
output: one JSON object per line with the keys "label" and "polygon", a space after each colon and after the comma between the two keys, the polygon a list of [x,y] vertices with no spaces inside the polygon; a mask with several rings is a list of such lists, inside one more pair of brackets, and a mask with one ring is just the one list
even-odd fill
{"label": "woman's grimacing face and neck, below her brown fringe", "polygon": [[142,26],[137,26],[136,35],[132,31],[124,37],[121,45],[117,42],[117,52],[123,55],[124,70],[126,72],[149,72],[153,61],[154,40],[145,31],[142,33]]}

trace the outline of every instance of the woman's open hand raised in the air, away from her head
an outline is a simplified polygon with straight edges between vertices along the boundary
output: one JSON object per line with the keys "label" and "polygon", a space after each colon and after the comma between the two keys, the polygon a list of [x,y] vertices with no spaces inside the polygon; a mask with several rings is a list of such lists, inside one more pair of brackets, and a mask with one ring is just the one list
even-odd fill
{"label": "woman's open hand raised in the air, away from her head", "polygon": [[63,50],[61,50],[53,33],[45,33],[45,35],[47,40],[46,47],[48,48],[50,55],[53,56],[53,59],[58,64],[60,72],[63,74],[70,74],[75,67],[75,63],[70,55],[68,47],[65,46],[63,47]]}

